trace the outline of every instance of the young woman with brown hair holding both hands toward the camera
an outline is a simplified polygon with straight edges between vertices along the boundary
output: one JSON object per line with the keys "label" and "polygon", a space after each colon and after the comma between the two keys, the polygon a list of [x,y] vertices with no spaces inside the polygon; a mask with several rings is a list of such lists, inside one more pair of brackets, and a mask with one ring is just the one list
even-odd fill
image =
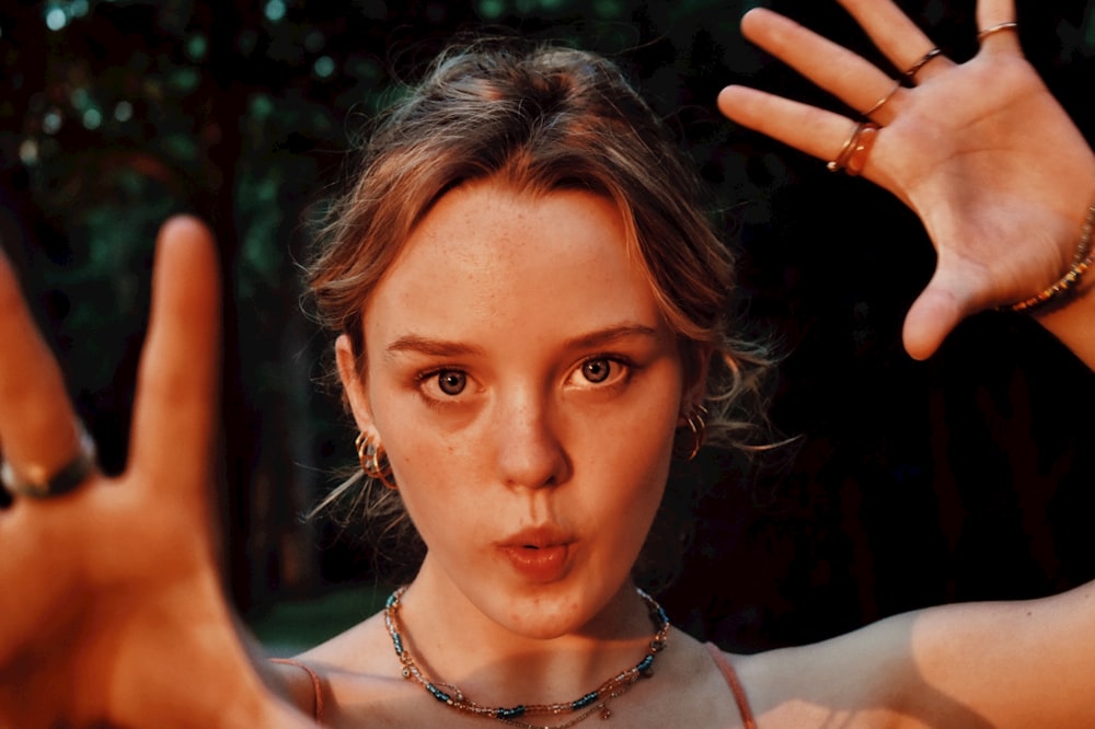
{"label": "young woman with brown hair holding both hands toward the camera", "polygon": [[[739,88],[721,108],[921,216],[938,266],[906,322],[911,355],[930,356],[969,313],[1018,304],[1095,364],[1085,325],[1095,157],[1022,60],[1011,3],[980,2],[981,51],[963,66],[885,0],[843,4],[909,85],[772,13],[753,11],[744,28],[878,128]],[[557,50],[438,68],[446,83],[424,86],[379,132],[312,275],[341,332],[362,470],[378,493],[397,493],[428,545],[413,583],[295,664],[253,657],[220,594],[201,486],[217,372],[205,229],[187,219],[163,229],[132,460],[117,479],[89,473],[56,367],[4,268],[0,336],[18,346],[0,354],[0,439],[5,482],[26,494],[0,522],[0,578],[26,586],[3,604],[4,721],[1095,720],[1084,701],[1091,586],[900,615],[748,657],[667,627],[632,566],[669,460],[675,447],[691,454],[708,424],[740,432],[711,395],[748,391],[761,359],[726,337],[725,291],[712,282],[725,285],[728,262],[694,202],[682,205],[687,175],[652,115],[610,67]],[[575,106],[590,84],[612,103],[593,93],[600,108]],[[503,114],[526,120],[523,136],[475,126],[492,124],[488,105],[507,104],[504,88],[525,89]],[[567,143],[548,143],[553,135]],[[494,143],[437,153],[475,139]],[[653,184],[669,181],[680,187]],[[35,497],[42,486],[51,498]]]}

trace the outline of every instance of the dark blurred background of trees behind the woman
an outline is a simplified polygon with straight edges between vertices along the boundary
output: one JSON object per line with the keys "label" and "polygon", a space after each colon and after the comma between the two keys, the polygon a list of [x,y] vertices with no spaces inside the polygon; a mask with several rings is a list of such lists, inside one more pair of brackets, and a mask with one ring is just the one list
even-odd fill
{"label": "dark blurred background of trees behind the woman", "polygon": [[[819,0],[0,5],[0,240],[108,470],[125,461],[157,227],[185,210],[217,232],[226,572],[275,650],[364,618],[391,587],[353,529],[301,519],[355,462],[322,381],[331,343],[300,300],[310,224],[356,131],[473,28],[624,66],[711,184],[750,333],[785,354],[773,415],[800,443],[673,473],[671,487],[710,484],[661,595],[677,624],[750,651],[1095,577],[1095,377],[1031,321],[991,312],[931,361],[903,354],[903,313],[934,264],[915,218],[715,109],[729,82],[841,109],[742,40],[756,4],[888,68]],[[972,1],[899,4],[953,58],[976,51]],[[1095,2],[1017,4],[1029,58],[1091,139]]]}

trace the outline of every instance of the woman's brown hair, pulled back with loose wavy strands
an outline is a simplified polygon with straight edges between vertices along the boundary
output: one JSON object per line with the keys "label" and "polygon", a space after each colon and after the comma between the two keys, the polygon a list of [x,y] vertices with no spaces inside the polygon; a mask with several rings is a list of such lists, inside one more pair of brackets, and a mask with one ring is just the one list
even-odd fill
{"label": "woman's brown hair, pulled back with loose wavy strands", "polygon": [[[621,70],[566,47],[461,44],[378,120],[348,190],[328,211],[308,278],[321,322],[348,335],[359,370],[365,303],[414,227],[449,189],[494,176],[520,192],[581,188],[615,202],[685,366],[699,372],[699,352],[716,352],[705,397],[708,442],[749,448],[759,414],[746,395],[759,392],[768,361],[763,348],[730,336],[734,261],[701,205],[699,180]],[[318,510],[353,495],[346,517],[364,511],[382,540],[416,536],[397,493],[374,486],[359,474]],[[414,560],[423,547],[399,551]]]}

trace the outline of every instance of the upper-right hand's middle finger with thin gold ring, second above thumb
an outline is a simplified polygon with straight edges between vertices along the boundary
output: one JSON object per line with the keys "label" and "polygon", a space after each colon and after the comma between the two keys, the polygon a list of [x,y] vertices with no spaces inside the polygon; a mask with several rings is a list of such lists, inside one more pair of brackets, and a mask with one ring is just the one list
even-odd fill
{"label": "upper-right hand's middle finger with thin gold ring, second above thumb", "polygon": [[[886,121],[900,105],[904,91],[896,88],[889,74],[783,15],[760,8],[750,10],[741,20],[741,32],[854,109],[884,111],[879,120]],[[884,97],[885,109],[879,109]]]}

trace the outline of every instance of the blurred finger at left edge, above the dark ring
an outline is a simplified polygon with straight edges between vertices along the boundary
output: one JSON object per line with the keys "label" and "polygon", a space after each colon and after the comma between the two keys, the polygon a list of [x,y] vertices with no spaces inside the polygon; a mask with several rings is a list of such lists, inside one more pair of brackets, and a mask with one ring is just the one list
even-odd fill
{"label": "blurred finger at left edge, above the dark ring", "polygon": [[49,347],[0,253],[0,445],[21,477],[43,483],[79,452],[80,429]]}

